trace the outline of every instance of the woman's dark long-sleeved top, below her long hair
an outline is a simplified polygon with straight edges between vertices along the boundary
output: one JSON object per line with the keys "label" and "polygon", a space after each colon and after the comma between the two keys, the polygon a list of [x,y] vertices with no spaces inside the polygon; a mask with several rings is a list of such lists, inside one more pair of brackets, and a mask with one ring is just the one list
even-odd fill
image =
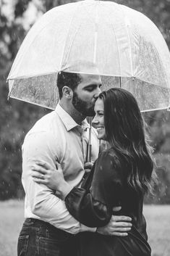
{"label": "woman's dark long-sleeved top, below her long hair", "polygon": [[102,236],[90,232],[79,234],[78,255],[150,255],[143,217],[143,195],[128,186],[127,168],[124,160],[113,149],[101,152],[82,187],[72,189],[67,195],[67,209],[86,226],[105,226],[113,215],[112,208],[119,205],[122,210],[116,214],[132,218],[132,231],[126,237]]}

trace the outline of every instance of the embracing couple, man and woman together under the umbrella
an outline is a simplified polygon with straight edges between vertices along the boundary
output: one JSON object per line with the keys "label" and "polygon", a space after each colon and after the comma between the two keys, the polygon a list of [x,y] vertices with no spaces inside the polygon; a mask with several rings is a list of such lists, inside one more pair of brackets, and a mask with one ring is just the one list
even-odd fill
{"label": "embracing couple, man and woman together under the umbrella", "polygon": [[[135,98],[122,88],[101,93],[99,75],[61,72],[57,86],[56,110],[35,123],[22,146],[18,256],[150,256],[143,197],[154,161]],[[87,116],[95,116],[94,164],[85,162]],[[109,149],[99,153],[98,139]]]}

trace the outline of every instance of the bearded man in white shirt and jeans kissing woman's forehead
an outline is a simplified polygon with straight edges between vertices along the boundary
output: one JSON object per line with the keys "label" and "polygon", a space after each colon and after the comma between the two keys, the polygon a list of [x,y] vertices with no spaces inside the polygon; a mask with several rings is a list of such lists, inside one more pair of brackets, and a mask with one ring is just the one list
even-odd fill
{"label": "bearded man in white shirt and jeans kissing woman's forehead", "polygon": [[[65,179],[80,186],[85,173],[84,163],[88,143],[86,116],[94,115],[94,104],[101,92],[99,75],[61,72],[58,75],[60,102],[54,112],[44,116],[27,133],[22,146],[22,184],[25,189],[25,223],[18,240],[18,255],[75,255],[75,234],[83,231],[126,235],[129,223],[115,220],[108,226],[89,228],[69,215],[64,202],[55,191],[37,184],[31,176],[36,160],[48,162],[55,168],[61,164]],[[98,140],[92,131],[92,160],[98,157]],[[121,233],[124,231],[125,233]]]}

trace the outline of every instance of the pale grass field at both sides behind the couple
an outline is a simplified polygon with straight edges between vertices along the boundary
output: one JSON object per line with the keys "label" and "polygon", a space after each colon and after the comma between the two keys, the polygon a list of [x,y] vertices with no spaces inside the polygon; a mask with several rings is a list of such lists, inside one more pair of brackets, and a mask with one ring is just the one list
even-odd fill
{"label": "pale grass field at both sides behind the couple", "polygon": [[[152,256],[169,256],[170,205],[145,205],[144,215]],[[0,256],[17,256],[17,238],[24,220],[23,216],[22,201],[0,202]]]}

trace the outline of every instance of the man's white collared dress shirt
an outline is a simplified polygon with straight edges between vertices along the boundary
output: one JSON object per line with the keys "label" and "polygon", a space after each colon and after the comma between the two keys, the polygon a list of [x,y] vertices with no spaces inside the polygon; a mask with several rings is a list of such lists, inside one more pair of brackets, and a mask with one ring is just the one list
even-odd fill
{"label": "man's white collared dress shirt", "polygon": [[[45,115],[25,136],[22,145],[22,185],[25,189],[25,218],[44,220],[71,234],[95,231],[79,223],[69,214],[64,201],[54,191],[33,181],[31,167],[35,160],[48,162],[53,168],[61,164],[65,180],[79,186],[85,173],[89,125],[87,120],[77,125],[58,104],[56,110]],[[92,160],[98,157],[98,139],[92,129]]]}

